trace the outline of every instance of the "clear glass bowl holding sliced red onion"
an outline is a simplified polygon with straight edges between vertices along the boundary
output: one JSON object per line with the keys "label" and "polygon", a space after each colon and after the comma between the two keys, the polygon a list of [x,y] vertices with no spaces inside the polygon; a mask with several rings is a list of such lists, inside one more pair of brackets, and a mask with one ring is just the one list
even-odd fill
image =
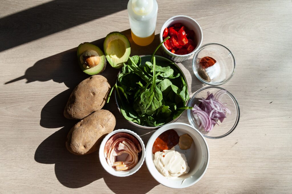
{"label": "clear glass bowl holding sliced red onion", "polygon": [[229,135],[239,122],[239,105],[227,90],[208,86],[194,93],[187,106],[190,124],[205,137],[219,139]]}

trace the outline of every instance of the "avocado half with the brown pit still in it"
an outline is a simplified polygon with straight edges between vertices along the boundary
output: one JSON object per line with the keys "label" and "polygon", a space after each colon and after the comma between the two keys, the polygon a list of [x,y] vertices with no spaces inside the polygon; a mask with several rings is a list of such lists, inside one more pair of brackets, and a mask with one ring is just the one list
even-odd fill
{"label": "avocado half with the brown pit still in it", "polygon": [[107,65],[102,50],[89,42],[81,43],[78,46],[77,59],[82,71],[88,75],[100,74]]}

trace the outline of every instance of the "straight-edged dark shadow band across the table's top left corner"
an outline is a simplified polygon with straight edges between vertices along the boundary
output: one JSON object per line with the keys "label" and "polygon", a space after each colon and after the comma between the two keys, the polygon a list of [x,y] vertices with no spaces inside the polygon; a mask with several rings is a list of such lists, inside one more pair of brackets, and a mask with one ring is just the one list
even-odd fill
{"label": "straight-edged dark shadow band across the table's top left corner", "polygon": [[0,18],[0,52],[122,11],[127,4],[116,0],[54,0],[5,16]]}

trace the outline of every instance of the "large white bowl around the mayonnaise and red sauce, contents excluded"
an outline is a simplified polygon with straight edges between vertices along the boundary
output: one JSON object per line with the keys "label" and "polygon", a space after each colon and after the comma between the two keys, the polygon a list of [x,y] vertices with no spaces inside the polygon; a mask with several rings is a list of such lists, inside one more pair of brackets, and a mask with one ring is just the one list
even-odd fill
{"label": "large white bowl around the mayonnaise and red sauce, contents excluded", "polygon": [[[191,148],[188,150],[180,150],[178,145],[175,146],[176,151],[185,154],[190,171],[179,177],[166,178],[160,174],[154,165],[154,154],[152,154],[152,147],[156,138],[161,133],[170,129],[175,130],[179,136],[185,133],[189,134],[193,139],[193,143]],[[150,137],[145,153],[146,165],[150,174],[159,183],[170,188],[186,188],[192,186],[202,178],[209,164],[209,148],[206,140],[197,129],[185,123],[169,123],[163,127],[160,127]]]}

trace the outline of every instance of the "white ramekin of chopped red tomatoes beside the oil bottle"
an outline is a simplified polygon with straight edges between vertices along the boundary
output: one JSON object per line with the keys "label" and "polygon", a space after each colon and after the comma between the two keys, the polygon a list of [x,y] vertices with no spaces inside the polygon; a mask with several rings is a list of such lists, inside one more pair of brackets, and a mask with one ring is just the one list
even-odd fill
{"label": "white ramekin of chopped red tomatoes beside the oil bottle", "polygon": [[175,62],[190,58],[201,46],[203,32],[198,22],[185,15],[169,18],[160,31],[160,42],[167,36],[162,45],[162,54]]}

